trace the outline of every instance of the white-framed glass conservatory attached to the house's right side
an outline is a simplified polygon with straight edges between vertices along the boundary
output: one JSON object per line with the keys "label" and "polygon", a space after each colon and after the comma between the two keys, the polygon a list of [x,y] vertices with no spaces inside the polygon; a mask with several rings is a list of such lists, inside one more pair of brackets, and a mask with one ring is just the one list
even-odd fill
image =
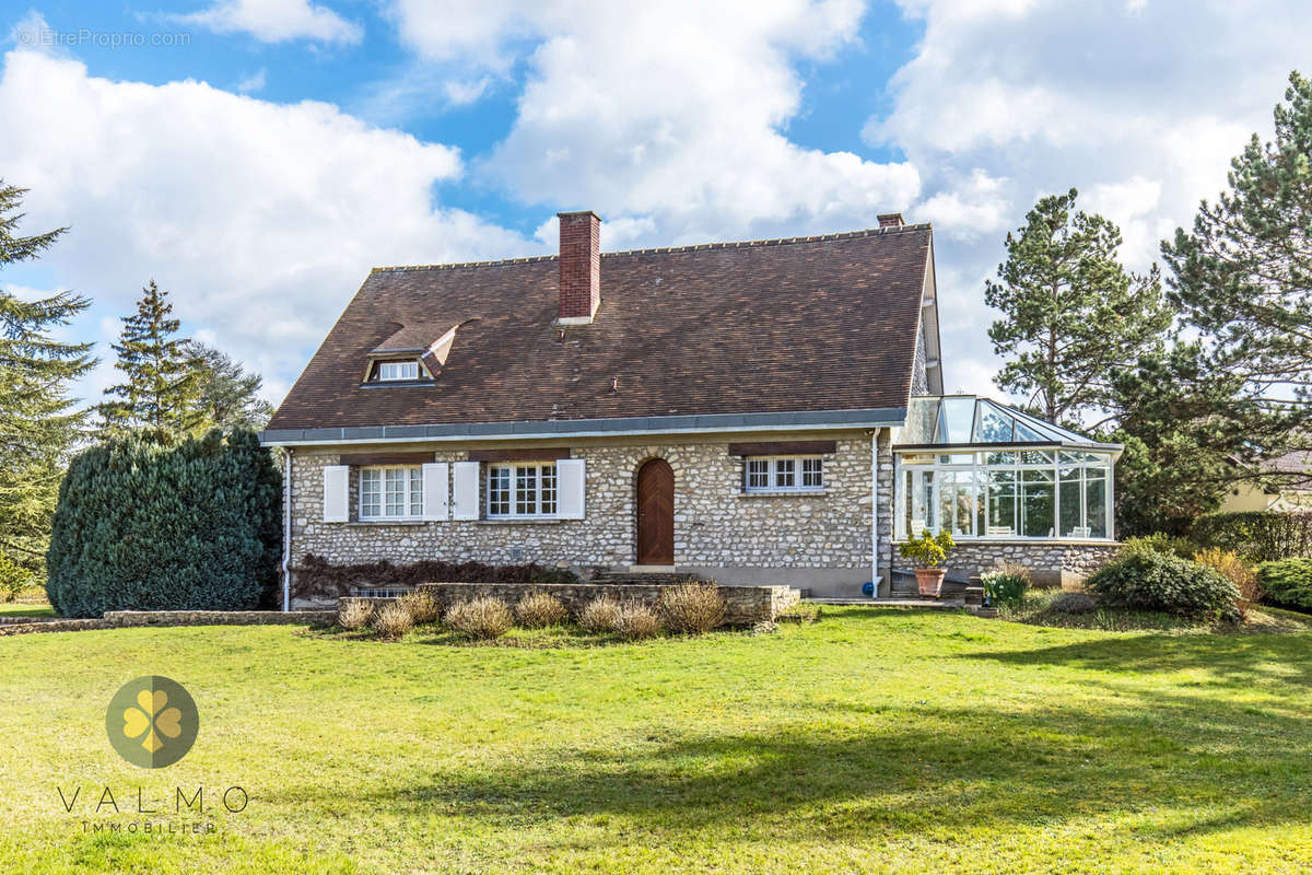
{"label": "white-framed glass conservatory attached to the house's right side", "polygon": [[974,395],[913,397],[893,446],[896,537],[1110,540],[1120,450]]}

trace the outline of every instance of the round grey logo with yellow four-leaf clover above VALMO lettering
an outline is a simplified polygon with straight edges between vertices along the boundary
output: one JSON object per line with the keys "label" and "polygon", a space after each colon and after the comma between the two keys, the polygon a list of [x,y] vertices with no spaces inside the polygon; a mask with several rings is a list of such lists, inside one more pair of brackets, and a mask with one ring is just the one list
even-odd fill
{"label": "round grey logo with yellow four-leaf clover above VALMO lettering", "polygon": [[142,769],[161,769],[185,757],[198,728],[192,695],[177,681],[157,674],[125,683],[105,714],[109,743]]}

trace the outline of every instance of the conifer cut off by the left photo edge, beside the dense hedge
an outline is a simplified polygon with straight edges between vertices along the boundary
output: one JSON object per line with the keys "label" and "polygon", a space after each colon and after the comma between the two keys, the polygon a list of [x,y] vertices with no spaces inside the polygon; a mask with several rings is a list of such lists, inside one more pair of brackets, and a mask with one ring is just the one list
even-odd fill
{"label": "conifer cut off by the left photo edge, beside the dense hedge", "polygon": [[[37,258],[67,231],[17,236],[25,193],[0,181],[0,268]],[[30,571],[41,569],[63,460],[84,424],[70,384],[96,365],[91,344],[50,332],[89,303],[68,291],[20,300],[0,290],[0,554]]]}

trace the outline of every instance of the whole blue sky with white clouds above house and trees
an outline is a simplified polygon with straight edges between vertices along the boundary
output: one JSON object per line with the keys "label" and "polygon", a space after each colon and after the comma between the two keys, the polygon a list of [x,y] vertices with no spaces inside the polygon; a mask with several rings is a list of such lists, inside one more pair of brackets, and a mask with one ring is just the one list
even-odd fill
{"label": "whole blue sky with white clouds above house and trees", "polygon": [[277,401],[373,265],[551,252],[558,210],[611,249],[901,211],[949,388],[989,392],[983,281],[1036,197],[1078,186],[1145,269],[1270,135],[1312,25],[1232,5],[38,3],[0,18],[0,178],[72,231],[0,283],[94,299],[88,400],[154,277]]}

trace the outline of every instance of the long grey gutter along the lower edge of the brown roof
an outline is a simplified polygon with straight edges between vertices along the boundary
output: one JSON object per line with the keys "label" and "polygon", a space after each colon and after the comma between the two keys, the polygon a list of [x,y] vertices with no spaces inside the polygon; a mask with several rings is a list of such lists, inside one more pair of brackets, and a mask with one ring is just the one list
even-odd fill
{"label": "long grey gutter along the lower edge of the brown roof", "polygon": [[434,441],[531,441],[560,437],[899,428],[905,424],[907,408],[890,407],[791,413],[703,413],[529,422],[268,429],[260,433],[260,443],[264,446],[335,446],[341,443],[432,443]]}

